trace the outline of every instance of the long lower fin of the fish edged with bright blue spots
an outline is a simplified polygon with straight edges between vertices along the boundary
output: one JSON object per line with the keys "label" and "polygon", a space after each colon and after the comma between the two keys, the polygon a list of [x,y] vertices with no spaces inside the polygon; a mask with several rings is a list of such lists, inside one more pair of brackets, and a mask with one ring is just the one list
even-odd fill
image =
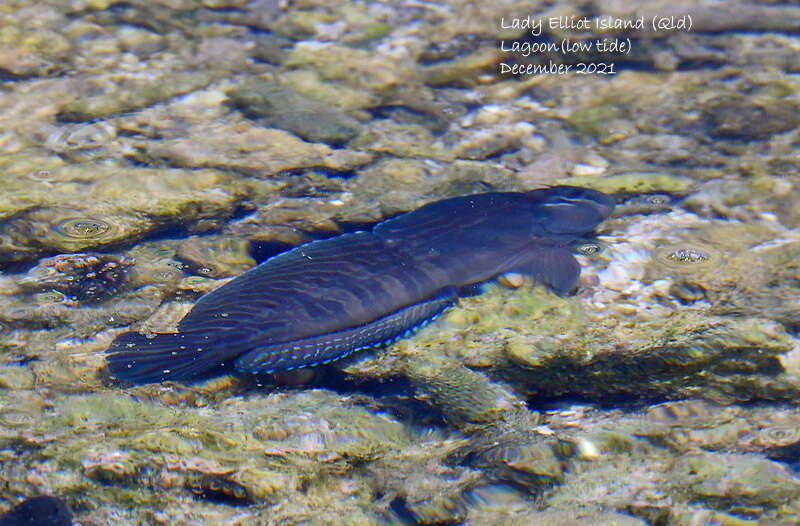
{"label": "long lower fin of the fish edged with bright blue spots", "polygon": [[389,345],[436,318],[452,305],[455,299],[455,288],[447,287],[424,301],[404,307],[365,325],[257,347],[236,359],[236,369],[257,374],[311,367],[338,360],[368,347]]}

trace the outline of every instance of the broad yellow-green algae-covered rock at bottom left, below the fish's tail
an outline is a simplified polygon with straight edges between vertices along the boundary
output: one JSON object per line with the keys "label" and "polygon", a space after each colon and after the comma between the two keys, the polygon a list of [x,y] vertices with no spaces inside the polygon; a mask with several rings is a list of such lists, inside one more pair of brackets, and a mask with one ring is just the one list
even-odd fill
{"label": "broad yellow-green algae-covered rock at bottom left, below the fish's tail", "polygon": [[[169,513],[200,520],[205,506],[224,500],[258,504],[229,510],[256,522],[316,514],[318,508],[375,521],[376,513],[364,506],[377,492],[402,492],[424,516],[434,513],[434,502],[448,508],[444,495],[458,496],[475,480],[460,468],[442,467],[448,476],[425,470],[414,475],[412,466],[423,459],[434,465],[452,451],[446,435],[420,435],[396,418],[342,403],[329,392],[216,402],[202,390],[169,391],[158,396],[173,405],[113,393],[53,400],[51,417],[18,427],[26,443],[41,445],[21,466],[46,467],[36,481],[53,492],[94,492],[100,502],[93,508],[136,506],[158,495],[170,503]],[[103,441],[94,438],[98,432]],[[366,471],[359,468],[365,463]],[[402,480],[393,473],[402,473]],[[442,496],[429,493],[427,505],[419,496],[412,501],[411,495],[421,494],[415,493],[417,484],[403,488],[409,479],[437,485]],[[197,502],[186,501],[190,496]],[[263,509],[275,503],[282,503],[279,509]]]}

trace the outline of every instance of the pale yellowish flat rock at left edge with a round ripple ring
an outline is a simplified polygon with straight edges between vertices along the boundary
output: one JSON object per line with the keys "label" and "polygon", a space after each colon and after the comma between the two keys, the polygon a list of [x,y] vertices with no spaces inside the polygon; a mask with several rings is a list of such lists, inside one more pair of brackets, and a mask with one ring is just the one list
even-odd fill
{"label": "pale yellowish flat rock at left edge with a round ripple ring", "polygon": [[[0,263],[123,245],[158,228],[226,217],[243,197],[230,175],[213,170],[90,163],[51,172],[48,180],[16,190],[36,207],[0,225],[0,244],[7,247]],[[86,180],[88,190],[78,182]]]}

